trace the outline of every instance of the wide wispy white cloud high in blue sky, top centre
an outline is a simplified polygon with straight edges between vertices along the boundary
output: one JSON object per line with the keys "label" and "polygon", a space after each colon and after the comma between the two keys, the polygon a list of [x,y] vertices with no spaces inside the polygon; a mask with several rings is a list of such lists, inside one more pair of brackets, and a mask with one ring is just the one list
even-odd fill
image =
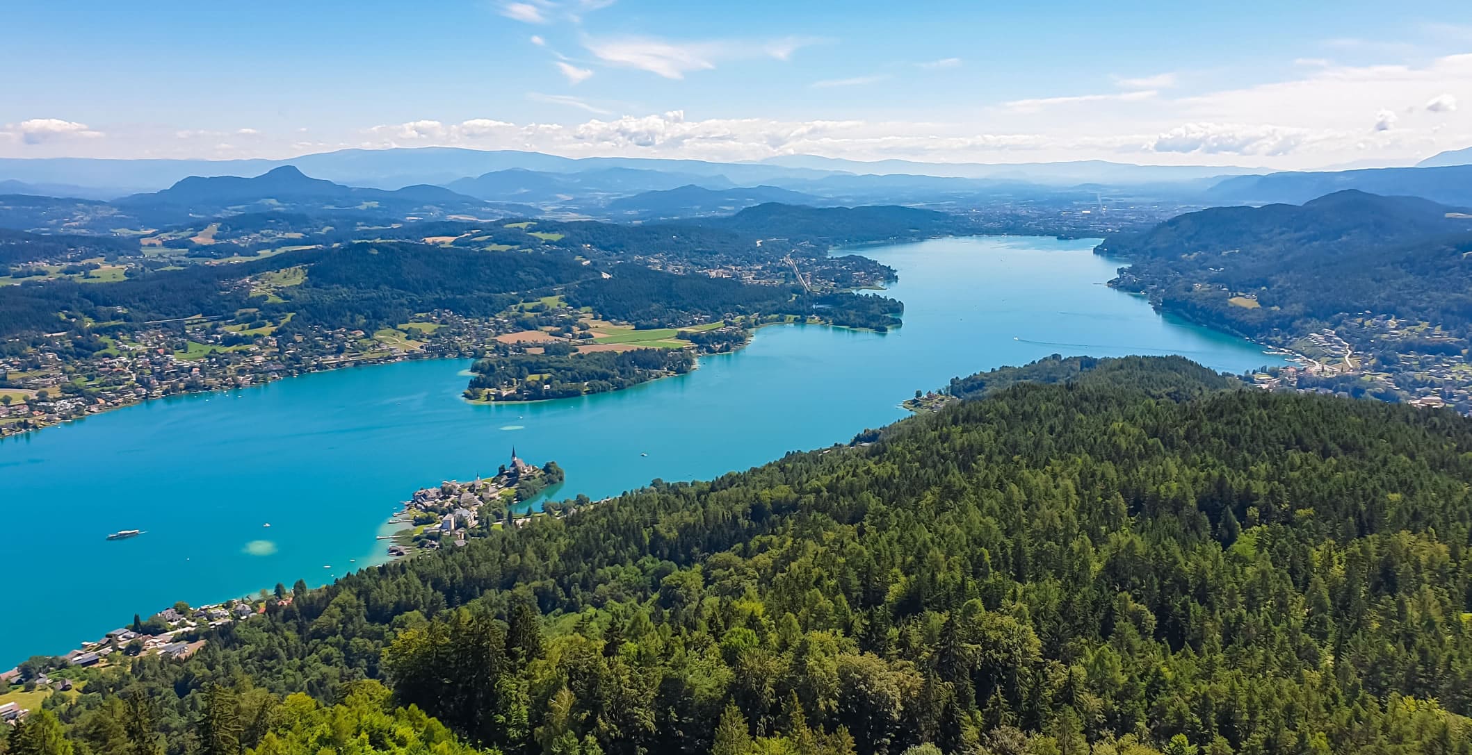
{"label": "wide wispy white cloud high in blue sky, top centre", "polygon": [[749,57],[789,60],[798,49],[815,44],[817,41],[808,37],[783,37],[768,41],[670,41],[654,37],[618,37],[586,40],[583,46],[595,57],[608,65],[634,68],[664,78],[680,79],[686,74],[710,71],[721,60]]}

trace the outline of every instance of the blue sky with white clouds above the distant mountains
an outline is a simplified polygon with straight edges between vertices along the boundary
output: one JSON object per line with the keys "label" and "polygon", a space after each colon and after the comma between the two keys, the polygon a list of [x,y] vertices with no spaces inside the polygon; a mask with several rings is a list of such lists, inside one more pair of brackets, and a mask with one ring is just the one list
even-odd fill
{"label": "blue sky with white clouds above the distant mountains", "polygon": [[0,157],[1306,169],[1472,146],[1465,0],[7,0],[0,72]]}

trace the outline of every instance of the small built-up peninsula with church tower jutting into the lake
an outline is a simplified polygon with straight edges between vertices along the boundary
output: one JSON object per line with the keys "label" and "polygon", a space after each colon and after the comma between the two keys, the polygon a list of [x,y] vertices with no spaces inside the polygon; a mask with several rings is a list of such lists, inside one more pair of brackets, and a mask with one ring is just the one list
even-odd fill
{"label": "small built-up peninsula with church tower jutting into the lake", "polygon": [[483,537],[490,530],[515,522],[512,509],[548,487],[562,483],[565,472],[555,461],[536,467],[521,461],[511,449],[511,464],[500,465],[495,477],[462,483],[445,480],[424,487],[403,502],[392,524],[411,527],[389,536],[390,556],[406,556],[411,549],[437,550],[443,546],[464,546],[470,537]]}

